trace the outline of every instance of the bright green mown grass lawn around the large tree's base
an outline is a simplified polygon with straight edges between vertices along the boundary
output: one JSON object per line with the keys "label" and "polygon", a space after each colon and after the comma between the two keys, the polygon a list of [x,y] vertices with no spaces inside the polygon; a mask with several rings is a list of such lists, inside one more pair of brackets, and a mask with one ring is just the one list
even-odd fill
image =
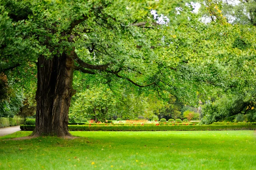
{"label": "bright green mown grass lawn around the large tree's base", "polygon": [[71,132],[0,137],[0,169],[256,170],[255,131]]}

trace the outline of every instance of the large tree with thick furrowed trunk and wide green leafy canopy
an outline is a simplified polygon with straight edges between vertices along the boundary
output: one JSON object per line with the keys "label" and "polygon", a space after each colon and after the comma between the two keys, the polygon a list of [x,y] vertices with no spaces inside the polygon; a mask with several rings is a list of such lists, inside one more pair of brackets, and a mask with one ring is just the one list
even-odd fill
{"label": "large tree with thick furrowed trunk and wide green leafy canopy", "polygon": [[184,0],[1,0],[0,72],[26,62],[37,67],[33,134],[70,135],[74,71],[113,90],[135,85],[138,91],[155,90],[163,98],[169,92],[191,103],[198,93],[206,92],[207,84],[228,88],[222,68],[228,58],[225,53],[236,58],[243,52],[232,48],[244,32],[235,35],[239,28],[222,21],[199,23],[189,4]]}

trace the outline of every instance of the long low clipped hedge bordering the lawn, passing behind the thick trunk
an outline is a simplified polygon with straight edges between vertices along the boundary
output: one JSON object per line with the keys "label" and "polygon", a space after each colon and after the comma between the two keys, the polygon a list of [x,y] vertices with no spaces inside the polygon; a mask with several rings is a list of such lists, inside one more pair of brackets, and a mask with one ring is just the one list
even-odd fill
{"label": "long low clipped hedge bordering the lawn, passing behind the thick trunk", "polygon": [[[34,125],[20,125],[21,130],[32,131]],[[81,126],[69,125],[70,131],[189,131],[189,130],[256,130],[256,125],[197,125],[197,126]]]}

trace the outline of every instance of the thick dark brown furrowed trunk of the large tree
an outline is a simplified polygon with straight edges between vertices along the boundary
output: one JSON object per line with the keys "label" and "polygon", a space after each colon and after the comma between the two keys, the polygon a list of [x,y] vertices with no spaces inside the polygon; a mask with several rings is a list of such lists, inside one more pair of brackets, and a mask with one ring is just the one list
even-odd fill
{"label": "thick dark brown furrowed trunk of the large tree", "polygon": [[76,91],[72,88],[74,61],[62,54],[38,58],[36,125],[32,135],[70,135],[68,110]]}

